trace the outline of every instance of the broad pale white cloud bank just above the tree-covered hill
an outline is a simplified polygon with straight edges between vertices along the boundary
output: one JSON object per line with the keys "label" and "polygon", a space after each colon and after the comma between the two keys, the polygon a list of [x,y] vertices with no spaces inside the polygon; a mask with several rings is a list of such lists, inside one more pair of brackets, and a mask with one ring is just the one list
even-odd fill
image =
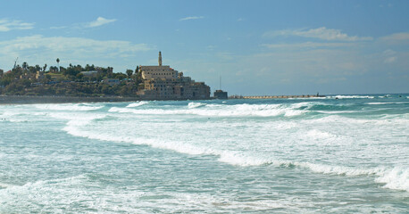
{"label": "broad pale white cloud bank just above the tree-covered hill", "polygon": [[[0,41],[0,64],[11,66],[19,56],[29,63],[45,63],[59,57],[62,62],[99,62],[101,66],[121,68],[139,52],[152,50],[146,44],[133,44],[121,40],[95,40],[83,37],[17,37]],[[54,62],[54,60],[51,60]]]}

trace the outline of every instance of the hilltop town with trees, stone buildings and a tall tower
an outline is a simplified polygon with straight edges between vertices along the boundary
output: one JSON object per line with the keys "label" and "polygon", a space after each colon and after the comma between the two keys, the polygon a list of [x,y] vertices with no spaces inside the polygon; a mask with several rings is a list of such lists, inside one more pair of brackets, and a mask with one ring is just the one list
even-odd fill
{"label": "hilltop town with trees, stone buildings and a tall tower", "polygon": [[[60,62],[59,59],[56,60]],[[29,96],[124,96],[143,100],[209,99],[210,87],[185,77],[183,72],[162,64],[138,66],[126,73],[113,73],[112,67],[94,65],[29,66],[15,64],[13,70],[0,70],[0,95]]]}

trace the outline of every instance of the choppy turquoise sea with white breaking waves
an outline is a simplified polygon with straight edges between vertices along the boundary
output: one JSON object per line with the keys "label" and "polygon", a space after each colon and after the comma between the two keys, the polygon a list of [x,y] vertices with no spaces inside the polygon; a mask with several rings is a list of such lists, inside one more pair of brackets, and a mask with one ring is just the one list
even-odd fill
{"label": "choppy turquoise sea with white breaking waves", "polygon": [[409,95],[0,105],[0,213],[408,213]]}

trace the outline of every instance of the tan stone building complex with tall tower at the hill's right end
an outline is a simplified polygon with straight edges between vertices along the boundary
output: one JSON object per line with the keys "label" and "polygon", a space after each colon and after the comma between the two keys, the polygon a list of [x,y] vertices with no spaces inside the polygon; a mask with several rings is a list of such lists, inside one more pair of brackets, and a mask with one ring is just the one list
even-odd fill
{"label": "tan stone building complex with tall tower at the hill's right end", "polygon": [[184,77],[183,72],[173,70],[162,64],[162,53],[159,52],[157,66],[139,66],[144,89],[138,92],[142,98],[157,100],[209,99],[210,87],[204,82],[196,82]]}

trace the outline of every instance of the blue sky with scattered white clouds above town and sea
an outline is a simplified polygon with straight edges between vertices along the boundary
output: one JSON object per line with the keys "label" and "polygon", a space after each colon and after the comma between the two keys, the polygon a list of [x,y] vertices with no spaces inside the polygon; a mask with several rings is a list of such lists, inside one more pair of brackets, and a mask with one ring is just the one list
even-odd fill
{"label": "blue sky with scattered white clouds above town and sea", "polygon": [[[0,0],[0,69],[163,64],[229,95],[409,93],[409,1]],[[221,84],[220,84],[221,77]]]}

